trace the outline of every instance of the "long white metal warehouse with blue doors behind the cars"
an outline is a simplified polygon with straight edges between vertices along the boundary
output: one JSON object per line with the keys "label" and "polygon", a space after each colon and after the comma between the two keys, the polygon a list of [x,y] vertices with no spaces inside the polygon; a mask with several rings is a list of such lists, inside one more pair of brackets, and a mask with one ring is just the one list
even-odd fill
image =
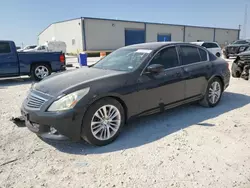
{"label": "long white metal warehouse with blue doors behind the cars", "polygon": [[39,45],[47,41],[64,41],[67,53],[112,51],[142,42],[216,41],[225,45],[239,39],[239,29],[172,25],[101,18],[78,18],[49,25],[38,36]]}

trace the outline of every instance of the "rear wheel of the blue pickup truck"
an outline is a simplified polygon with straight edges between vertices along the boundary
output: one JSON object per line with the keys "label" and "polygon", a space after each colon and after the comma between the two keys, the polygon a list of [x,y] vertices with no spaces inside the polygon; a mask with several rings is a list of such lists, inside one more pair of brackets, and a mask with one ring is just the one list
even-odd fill
{"label": "rear wheel of the blue pickup truck", "polygon": [[[39,70],[41,71],[40,73]],[[49,76],[51,72],[52,71],[49,65],[44,63],[37,63],[32,65],[31,77],[36,81],[41,81],[43,78]]]}

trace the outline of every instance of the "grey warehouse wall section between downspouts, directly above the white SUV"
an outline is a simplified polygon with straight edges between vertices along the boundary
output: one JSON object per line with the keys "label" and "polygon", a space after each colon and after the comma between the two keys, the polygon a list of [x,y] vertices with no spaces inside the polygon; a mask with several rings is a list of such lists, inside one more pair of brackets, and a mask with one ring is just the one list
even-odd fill
{"label": "grey warehouse wall section between downspouts, directly above the white SUV", "polygon": [[197,40],[213,41],[214,29],[186,26],[185,42],[196,42]]}

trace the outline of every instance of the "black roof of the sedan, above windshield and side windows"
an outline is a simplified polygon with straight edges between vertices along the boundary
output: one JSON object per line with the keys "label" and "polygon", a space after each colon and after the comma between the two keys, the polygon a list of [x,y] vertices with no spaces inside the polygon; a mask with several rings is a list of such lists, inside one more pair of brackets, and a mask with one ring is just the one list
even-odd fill
{"label": "black roof of the sedan, above windshield and side windows", "polygon": [[140,44],[133,44],[133,45],[129,45],[129,46],[125,46],[123,48],[125,49],[150,49],[150,50],[158,50],[159,48],[162,48],[164,46],[168,46],[171,44],[188,44],[190,45],[190,43],[186,43],[186,42],[147,42],[147,43],[140,43]]}

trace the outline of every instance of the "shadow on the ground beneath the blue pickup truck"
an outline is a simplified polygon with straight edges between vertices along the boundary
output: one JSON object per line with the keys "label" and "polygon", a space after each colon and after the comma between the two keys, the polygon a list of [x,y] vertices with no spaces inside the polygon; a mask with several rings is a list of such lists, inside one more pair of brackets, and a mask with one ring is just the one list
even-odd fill
{"label": "shadow on the ground beneath the blue pickup truck", "polygon": [[17,85],[24,85],[24,84],[31,84],[34,82],[29,77],[24,78],[1,78],[0,79],[0,89],[4,89],[10,86],[17,86]]}

